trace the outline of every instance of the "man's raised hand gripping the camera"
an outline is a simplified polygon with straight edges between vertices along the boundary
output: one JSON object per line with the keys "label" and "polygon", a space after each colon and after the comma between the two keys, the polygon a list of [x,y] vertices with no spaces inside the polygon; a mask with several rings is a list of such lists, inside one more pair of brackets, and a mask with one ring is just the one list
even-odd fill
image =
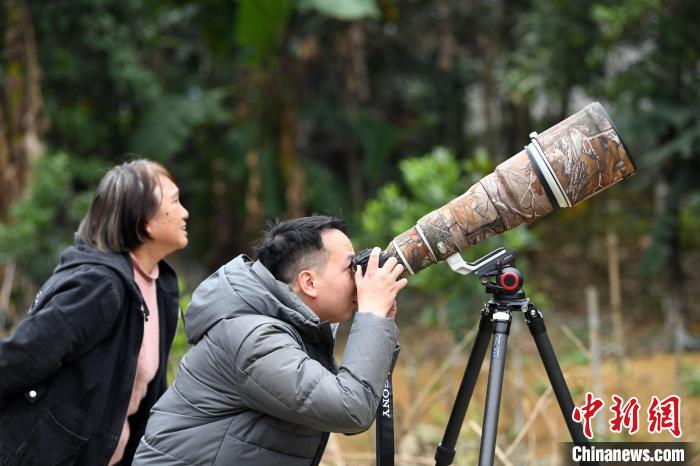
{"label": "man's raised hand gripping the camera", "polygon": [[389,257],[379,267],[380,252],[379,248],[372,249],[364,275],[361,267],[355,271],[357,311],[393,318],[396,315],[396,295],[408,281],[405,278],[397,280],[404,267],[395,257]]}

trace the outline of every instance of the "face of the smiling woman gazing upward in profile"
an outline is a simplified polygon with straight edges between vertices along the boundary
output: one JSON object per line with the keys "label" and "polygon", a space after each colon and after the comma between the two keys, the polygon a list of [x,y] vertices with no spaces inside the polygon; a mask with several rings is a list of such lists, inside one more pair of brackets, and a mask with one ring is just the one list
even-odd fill
{"label": "face of the smiling woman gazing upward in profile", "polygon": [[163,257],[187,246],[187,218],[189,212],[180,204],[180,190],[170,178],[158,175],[156,197],[160,199],[158,212],[146,223],[151,236],[145,244],[156,247]]}

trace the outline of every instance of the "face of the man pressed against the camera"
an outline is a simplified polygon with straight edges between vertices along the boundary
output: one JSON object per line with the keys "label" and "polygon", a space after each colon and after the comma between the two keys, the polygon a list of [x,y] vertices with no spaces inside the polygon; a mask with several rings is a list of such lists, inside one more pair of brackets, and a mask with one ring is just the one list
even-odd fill
{"label": "face of the man pressed against the camera", "polygon": [[316,298],[308,303],[321,322],[343,322],[352,317],[357,307],[355,278],[351,263],[355,250],[350,239],[340,230],[327,230],[321,234],[327,251],[325,267],[316,270],[314,286]]}

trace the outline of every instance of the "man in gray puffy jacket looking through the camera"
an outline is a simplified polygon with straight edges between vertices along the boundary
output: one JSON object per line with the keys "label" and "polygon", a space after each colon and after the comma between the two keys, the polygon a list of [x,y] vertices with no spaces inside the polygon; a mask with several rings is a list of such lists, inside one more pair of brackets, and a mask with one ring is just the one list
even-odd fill
{"label": "man in gray puffy jacket looking through the camera", "polygon": [[[345,224],[273,226],[259,260],[238,256],[194,292],[194,347],[154,406],[134,464],[318,464],[328,432],[369,428],[390,370],[406,279],[375,248],[363,275]],[[358,312],[340,366],[334,325]]]}

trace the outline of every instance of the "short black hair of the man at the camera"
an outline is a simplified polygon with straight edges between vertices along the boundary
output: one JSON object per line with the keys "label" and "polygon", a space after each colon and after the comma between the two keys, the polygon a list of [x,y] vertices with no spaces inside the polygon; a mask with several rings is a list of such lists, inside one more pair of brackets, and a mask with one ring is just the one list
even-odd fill
{"label": "short black hair of the man at the camera", "polygon": [[278,220],[268,225],[255,251],[277,280],[292,284],[302,270],[325,265],[327,251],[321,233],[345,229],[343,220],[323,215]]}

